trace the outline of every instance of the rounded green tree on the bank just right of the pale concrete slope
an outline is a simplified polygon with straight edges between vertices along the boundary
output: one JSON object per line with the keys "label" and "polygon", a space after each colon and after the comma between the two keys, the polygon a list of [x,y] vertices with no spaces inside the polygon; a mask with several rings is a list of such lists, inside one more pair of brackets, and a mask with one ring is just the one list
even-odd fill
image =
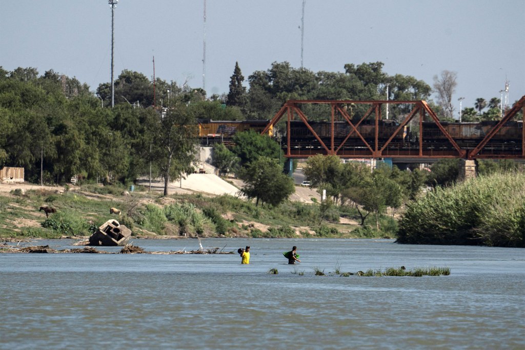
{"label": "rounded green tree on the bank just right of the pale concrete slope", "polygon": [[279,205],[295,192],[293,180],[282,173],[279,162],[268,157],[260,157],[241,171],[245,186],[241,191],[248,198],[255,198],[255,205],[269,203]]}

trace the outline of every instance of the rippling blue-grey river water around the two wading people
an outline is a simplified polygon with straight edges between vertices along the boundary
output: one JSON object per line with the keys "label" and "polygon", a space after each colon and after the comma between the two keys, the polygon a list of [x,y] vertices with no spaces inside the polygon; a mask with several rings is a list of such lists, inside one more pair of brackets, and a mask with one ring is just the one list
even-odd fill
{"label": "rippling blue-grey river water around the two wading people", "polygon": [[[192,239],[133,243],[198,248]],[[250,245],[250,264],[238,254],[1,253],[0,348],[525,348],[523,249],[339,239],[202,244]],[[282,255],[292,245],[300,264]],[[401,265],[450,267],[450,275],[314,275]]]}

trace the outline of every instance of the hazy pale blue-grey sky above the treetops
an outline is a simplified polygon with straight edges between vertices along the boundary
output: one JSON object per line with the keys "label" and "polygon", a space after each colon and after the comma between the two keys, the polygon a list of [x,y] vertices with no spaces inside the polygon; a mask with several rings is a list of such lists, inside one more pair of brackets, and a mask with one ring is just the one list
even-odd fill
{"label": "hazy pale blue-grey sky above the treetops", "polygon": [[[120,0],[115,78],[123,69],[203,86],[204,0]],[[247,78],[274,61],[301,66],[302,0],[207,0],[205,88],[228,92],[235,61]],[[303,65],[344,71],[382,61],[389,75],[433,85],[457,72],[454,101],[525,95],[524,0],[306,0]],[[75,76],[95,90],[111,81],[107,0],[0,0],[0,66]]]}

